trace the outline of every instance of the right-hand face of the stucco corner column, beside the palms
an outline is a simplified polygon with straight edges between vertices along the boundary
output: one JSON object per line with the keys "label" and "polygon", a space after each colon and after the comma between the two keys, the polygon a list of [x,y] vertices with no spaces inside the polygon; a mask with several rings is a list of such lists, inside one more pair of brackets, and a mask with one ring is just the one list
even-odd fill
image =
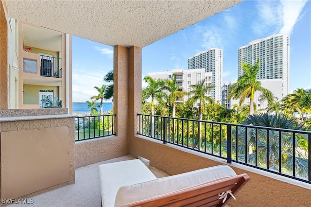
{"label": "right-hand face of the stucco corner column, beside the palms", "polygon": [[138,116],[141,113],[141,48],[129,48],[128,70],[128,138],[138,130]]}

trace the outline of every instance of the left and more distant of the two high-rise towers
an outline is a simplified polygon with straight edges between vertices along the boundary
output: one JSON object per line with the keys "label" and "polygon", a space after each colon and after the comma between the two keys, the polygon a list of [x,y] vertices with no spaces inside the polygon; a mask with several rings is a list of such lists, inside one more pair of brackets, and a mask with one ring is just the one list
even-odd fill
{"label": "left and more distant of the two high-rise towers", "polygon": [[211,48],[188,58],[188,69],[205,69],[212,73],[212,98],[221,102],[223,86],[223,50]]}

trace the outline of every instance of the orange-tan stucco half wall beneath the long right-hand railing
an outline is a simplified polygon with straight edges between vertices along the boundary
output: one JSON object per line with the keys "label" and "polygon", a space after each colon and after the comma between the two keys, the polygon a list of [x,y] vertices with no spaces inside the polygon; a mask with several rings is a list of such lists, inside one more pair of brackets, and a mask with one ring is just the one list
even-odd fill
{"label": "orange-tan stucco half wall beneath the long right-hand railing", "polygon": [[[150,160],[150,165],[170,175],[201,168],[226,164],[195,155],[185,149],[163,144],[157,140],[129,138],[129,154]],[[230,165],[237,174],[247,173],[250,181],[237,194],[237,201],[231,200],[231,207],[309,207],[311,190],[282,182],[258,173],[242,170]]]}

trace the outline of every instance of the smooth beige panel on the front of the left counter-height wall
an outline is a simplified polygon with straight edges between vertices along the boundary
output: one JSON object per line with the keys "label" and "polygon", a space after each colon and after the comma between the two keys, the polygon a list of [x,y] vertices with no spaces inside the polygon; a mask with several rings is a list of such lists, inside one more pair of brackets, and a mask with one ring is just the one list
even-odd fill
{"label": "smooth beige panel on the front of the left counter-height wall", "polygon": [[1,198],[68,182],[69,137],[68,126],[1,132]]}

